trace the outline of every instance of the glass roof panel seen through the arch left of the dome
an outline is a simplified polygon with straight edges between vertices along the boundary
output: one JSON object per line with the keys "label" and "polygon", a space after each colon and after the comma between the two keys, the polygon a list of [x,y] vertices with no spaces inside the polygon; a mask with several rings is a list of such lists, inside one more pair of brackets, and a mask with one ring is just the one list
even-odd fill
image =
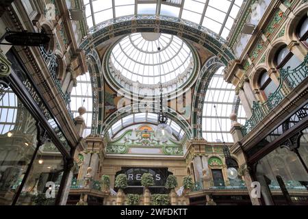
{"label": "glass roof panel seen through the arch left of the dome", "polygon": [[92,86],[89,73],[77,77],[77,87],[73,88],[70,94],[70,110],[74,114],[74,118],[79,116],[78,108],[86,107],[86,114],[83,115],[86,129],[83,137],[90,135],[92,126]]}

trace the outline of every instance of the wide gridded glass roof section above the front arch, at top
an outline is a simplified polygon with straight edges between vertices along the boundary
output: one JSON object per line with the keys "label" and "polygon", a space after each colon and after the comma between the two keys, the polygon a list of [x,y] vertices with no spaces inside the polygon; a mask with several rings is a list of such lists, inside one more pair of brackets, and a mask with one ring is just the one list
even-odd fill
{"label": "wide gridded glass roof section above the front arch, at top", "polygon": [[[203,25],[227,38],[243,0],[84,0],[89,28],[103,21],[133,14],[174,16]],[[158,4],[158,5],[157,5]]]}

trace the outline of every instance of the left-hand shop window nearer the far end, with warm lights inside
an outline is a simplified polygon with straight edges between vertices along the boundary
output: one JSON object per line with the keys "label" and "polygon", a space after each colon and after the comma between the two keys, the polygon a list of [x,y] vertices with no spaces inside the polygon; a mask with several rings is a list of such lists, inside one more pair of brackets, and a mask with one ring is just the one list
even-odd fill
{"label": "left-hand shop window nearer the far end, with warm lights inside", "polygon": [[55,205],[64,160],[54,144],[40,146],[17,205]]}

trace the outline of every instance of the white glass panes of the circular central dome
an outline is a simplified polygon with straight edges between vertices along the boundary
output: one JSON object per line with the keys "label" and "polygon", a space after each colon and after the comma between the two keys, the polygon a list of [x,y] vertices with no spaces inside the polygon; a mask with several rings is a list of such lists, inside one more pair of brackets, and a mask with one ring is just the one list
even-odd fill
{"label": "white glass panes of the circular central dome", "polygon": [[145,85],[160,81],[164,85],[188,76],[193,63],[188,45],[169,34],[131,34],[120,40],[110,55],[110,68],[118,70],[129,81]]}

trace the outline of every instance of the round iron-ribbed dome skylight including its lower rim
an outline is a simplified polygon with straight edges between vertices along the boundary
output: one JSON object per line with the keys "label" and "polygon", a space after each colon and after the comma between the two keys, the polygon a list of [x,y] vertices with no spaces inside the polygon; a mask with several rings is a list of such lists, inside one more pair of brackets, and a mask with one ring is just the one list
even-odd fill
{"label": "round iron-ribbed dome skylight including its lower rim", "polygon": [[192,50],[170,34],[131,34],[108,53],[107,72],[117,87],[154,96],[162,83],[164,92],[169,93],[192,81],[194,63],[198,62]]}

